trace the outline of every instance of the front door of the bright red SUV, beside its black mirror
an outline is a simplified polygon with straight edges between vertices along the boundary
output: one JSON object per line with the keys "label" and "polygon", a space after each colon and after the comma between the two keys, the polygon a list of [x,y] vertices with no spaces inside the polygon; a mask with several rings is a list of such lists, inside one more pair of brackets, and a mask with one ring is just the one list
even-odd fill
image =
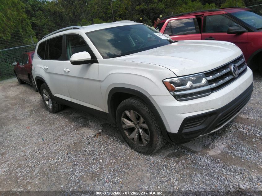
{"label": "front door of the bright red SUV, beside its black mirror", "polygon": [[243,53],[247,50],[247,33],[241,34],[228,34],[228,28],[233,26],[240,26],[237,21],[229,18],[225,14],[206,14],[204,15],[202,30],[202,40],[219,40],[229,41],[236,44]]}

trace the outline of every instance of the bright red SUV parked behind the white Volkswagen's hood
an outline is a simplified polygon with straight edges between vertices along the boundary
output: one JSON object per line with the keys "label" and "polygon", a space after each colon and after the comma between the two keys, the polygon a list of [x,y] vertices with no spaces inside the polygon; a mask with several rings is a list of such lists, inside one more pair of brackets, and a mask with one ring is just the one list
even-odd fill
{"label": "bright red SUV parked behind the white Volkswagen's hood", "polygon": [[247,64],[262,73],[262,16],[248,8],[223,8],[172,15],[159,24],[173,40],[220,40],[236,44]]}

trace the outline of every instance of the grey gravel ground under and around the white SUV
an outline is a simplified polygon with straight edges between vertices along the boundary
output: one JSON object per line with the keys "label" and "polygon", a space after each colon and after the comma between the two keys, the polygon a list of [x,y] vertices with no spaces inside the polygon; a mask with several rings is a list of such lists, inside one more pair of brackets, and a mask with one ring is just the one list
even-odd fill
{"label": "grey gravel ground under and around the white SUV", "polygon": [[0,191],[261,195],[261,94],[262,77],[255,75],[250,102],[223,129],[143,155],[131,150],[107,120],[70,107],[51,114],[30,85],[1,81]]}

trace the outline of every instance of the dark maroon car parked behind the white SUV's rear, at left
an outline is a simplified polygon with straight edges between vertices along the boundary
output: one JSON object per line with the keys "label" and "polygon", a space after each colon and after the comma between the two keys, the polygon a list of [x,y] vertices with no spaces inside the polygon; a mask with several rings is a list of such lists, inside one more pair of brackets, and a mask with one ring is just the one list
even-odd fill
{"label": "dark maroon car parked behind the white SUV's rear, at left", "polygon": [[24,82],[33,86],[35,91],[38,91],[32,77],[32,61],[34,57],[34,51],[23,53],[18,62],[13,63],[14,72],[19,84]]}

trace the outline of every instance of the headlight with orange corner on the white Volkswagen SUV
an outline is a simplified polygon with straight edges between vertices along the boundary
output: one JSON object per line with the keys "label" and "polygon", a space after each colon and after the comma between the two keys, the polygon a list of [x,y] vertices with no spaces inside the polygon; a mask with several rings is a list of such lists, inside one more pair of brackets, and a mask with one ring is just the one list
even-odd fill
{"label": "headlight with orange corner on the white Volkswagen SUV", "polygon": [[206,76],[203,73],[163,80],[171,95],[178,101],[196,99],[211,94]]}

